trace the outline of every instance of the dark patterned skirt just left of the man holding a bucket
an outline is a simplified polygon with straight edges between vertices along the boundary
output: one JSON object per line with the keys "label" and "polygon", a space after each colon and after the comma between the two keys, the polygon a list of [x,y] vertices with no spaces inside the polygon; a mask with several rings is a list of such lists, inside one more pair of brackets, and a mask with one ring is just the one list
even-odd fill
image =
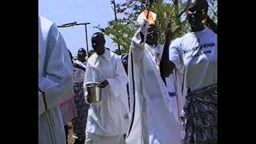
{"label": "dark patterned skirt just left of the man holding a bucket", "polygon": [[74,83],[74,103],[78,114],[78,117],[74,118],[72,121],[74,126],[74,134],[78,137],[78,139],[85,139],[87,115],[90,105],[86,103],[83,82]]}

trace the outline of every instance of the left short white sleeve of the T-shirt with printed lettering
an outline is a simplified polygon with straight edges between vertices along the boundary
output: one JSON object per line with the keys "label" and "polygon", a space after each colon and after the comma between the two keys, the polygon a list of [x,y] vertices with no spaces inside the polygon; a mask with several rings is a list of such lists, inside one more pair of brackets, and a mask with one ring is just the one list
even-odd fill
{"label": "left short white sleeve of the T-shirt with printed lettering", "polygon": [[173,42],[171,42],[169,49],[170,61],[174,62],[175,68],[180,70],[182,68],[182,53],[180,39],[176,38]]}

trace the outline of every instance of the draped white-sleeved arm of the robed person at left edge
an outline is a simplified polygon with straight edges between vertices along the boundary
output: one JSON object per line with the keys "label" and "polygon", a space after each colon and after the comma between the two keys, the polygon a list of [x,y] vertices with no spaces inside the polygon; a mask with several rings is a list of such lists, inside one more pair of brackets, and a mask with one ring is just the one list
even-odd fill
{"label": "draped white-sleeved arm of the robed person at left edge", "polygon": [[46,75],[42,77],[38,90],[43,94],[46,109],[51,109],[73,94],[70,55],[55,25],[50,28],[46,49]]}

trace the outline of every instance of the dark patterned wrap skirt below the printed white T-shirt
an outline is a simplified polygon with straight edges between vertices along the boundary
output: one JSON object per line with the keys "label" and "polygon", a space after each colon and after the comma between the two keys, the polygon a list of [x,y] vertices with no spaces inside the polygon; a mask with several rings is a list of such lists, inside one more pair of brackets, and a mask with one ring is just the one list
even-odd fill
{"label": "dark patterned wrap skirt below the printed white T-shirt", "polygon": [[189,92],[182,113],[182,143],[218,143],[217,85]]}

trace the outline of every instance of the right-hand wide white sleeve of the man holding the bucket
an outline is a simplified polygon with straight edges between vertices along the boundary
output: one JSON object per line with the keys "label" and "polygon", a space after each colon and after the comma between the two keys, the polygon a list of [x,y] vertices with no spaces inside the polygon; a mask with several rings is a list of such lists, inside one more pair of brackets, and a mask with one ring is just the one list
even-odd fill
{"label": "right-hand wide white sleeve of the man holding the bucket", "polygon": [[114,96],[118,97],[126,92],[126,85],[128,83],[128,77],[126,74],[126,70],[122,65],[121,58],[116,59],[116,69],[114,78],[107,78],[107,82],[109,82],[110,89],[113,91]]}

